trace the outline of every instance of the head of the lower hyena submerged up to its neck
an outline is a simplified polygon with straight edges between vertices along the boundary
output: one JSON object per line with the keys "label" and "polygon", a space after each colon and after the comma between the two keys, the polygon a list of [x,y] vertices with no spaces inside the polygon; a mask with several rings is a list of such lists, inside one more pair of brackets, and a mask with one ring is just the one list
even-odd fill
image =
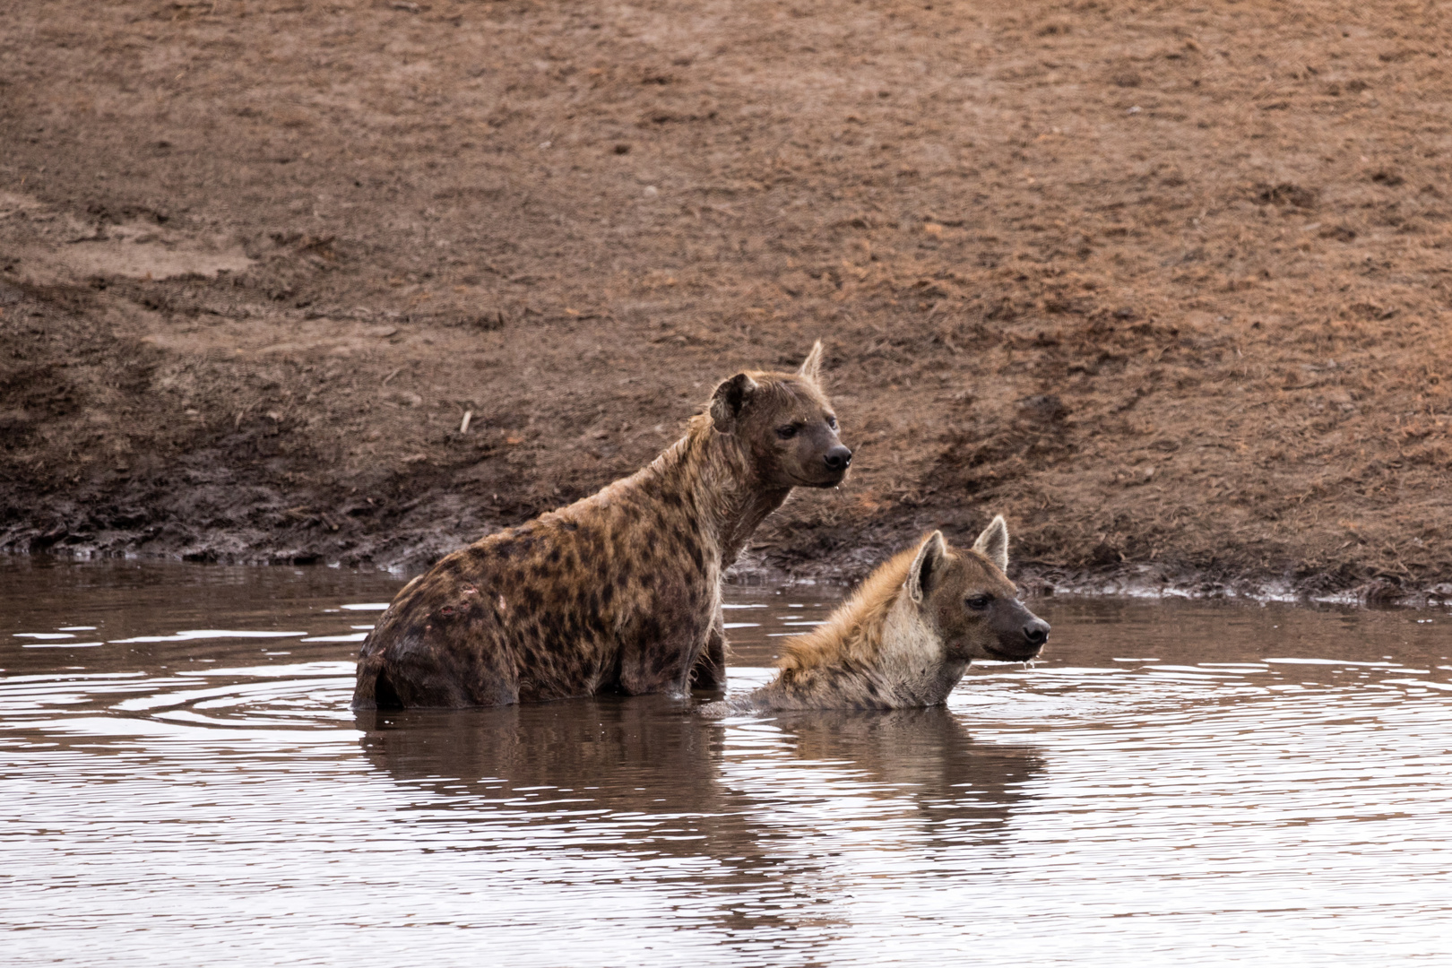
{"label": "head of the lower hyena submerged up to its neck", "polygon": [[942,531],[918,547],[908,569],[908,595],[935,627],[944,659],[1032,659],[1048,640],[1048,623],[1024,608],[1008,569],[1003,517],[983,530],[971,550],[950,549]]}

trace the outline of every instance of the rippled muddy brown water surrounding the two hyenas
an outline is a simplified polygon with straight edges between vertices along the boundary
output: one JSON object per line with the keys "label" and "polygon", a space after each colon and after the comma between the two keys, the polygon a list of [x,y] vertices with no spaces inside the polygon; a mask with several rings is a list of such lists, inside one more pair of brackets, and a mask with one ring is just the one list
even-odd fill
{"label": "rippled muddy brown water surrounding the two hyenas", "polygon": [[[0,559],[7,964],[1452,958],[1452,615],[1041,599],[948,708],[354,717],[386,575]],[[733,589],[733,685],[835,592]]]}

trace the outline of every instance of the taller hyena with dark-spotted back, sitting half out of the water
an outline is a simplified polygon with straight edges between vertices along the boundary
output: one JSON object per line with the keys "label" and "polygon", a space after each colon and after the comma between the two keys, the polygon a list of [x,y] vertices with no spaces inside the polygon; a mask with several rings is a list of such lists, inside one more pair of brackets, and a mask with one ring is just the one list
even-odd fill
{"label": "taller hyena with dark-spotted back, sitting half out of the water", "polygon": [[363,641],[354,708],[505,705],[725,679],[720,576],[794,486],[852,451],[817,380],[738,373],[684,438],[604,491],[447,556]]}

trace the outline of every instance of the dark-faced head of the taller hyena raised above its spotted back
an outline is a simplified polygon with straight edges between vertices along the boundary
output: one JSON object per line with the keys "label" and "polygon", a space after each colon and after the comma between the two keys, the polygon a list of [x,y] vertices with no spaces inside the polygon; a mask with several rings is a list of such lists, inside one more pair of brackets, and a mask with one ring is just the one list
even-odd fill
{"label": "dark-faced head of the taller hyena raised above its spotted back", "polygon": [[836,414],[822,392],[822,344],[796,373],[738,373],[716,387],[711,424],[736,437],[767,488],[835,488],[852,451],[836,432]]}

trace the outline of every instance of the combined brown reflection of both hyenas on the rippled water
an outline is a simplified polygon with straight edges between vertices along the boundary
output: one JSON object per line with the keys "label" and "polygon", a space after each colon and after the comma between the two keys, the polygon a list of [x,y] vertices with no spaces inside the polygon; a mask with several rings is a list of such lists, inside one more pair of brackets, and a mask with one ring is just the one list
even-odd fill
{"label": "combined brown reflection of both hyenas on the rippled water", "polygon": [[835,920],[823,891],[845,875],[908,874],[1000,834],[1041,765],[1031,747],[974,743],[942,708],[730,730],[662,698],[360,720],[369,762],[428,794],[411,820],[447,830],[436,849],[597,890],[664,878],[661,927],[688,913],[741,942]]}

